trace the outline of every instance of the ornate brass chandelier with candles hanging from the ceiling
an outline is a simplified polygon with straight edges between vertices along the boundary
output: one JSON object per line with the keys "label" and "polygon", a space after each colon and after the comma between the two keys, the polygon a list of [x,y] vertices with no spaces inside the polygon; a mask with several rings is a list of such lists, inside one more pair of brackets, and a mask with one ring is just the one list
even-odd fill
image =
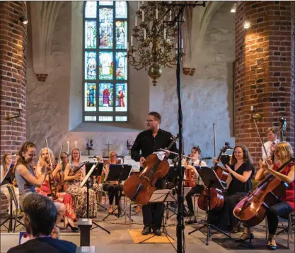
{"label": "ornate brass chandelier with candles hanging from the ceiling", "polygon": [[[156,86],[163,69],[176,65],[177,43],[174,40],[177,25],[172,21],[173,6],[165,6],[163,1],[138,1],[136,14],[131,47],[126,57],[134,69],[146,69]],[[137,19],[141,20],[139,26]],[[137,47],[133,45],[133,38]]]}

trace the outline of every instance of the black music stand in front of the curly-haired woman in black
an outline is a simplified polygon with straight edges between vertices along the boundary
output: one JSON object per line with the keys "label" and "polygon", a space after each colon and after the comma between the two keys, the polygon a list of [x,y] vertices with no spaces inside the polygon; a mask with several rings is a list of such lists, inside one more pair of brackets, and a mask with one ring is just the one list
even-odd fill
{"label": "black music stand in front of the curly-haired woman in black", "polygon": [[202,228],[203,227],[207,227],[207,235],[202,232],[204,235],[207,236],[207,241],[206,241],[206,245],[209,244],[209,237],[210,235],[210,229],[211,227],[214,227],[214,229],[218,230],[219,232],[221,232],[222,234],[226,235],[226,237],[231,238],[230,235],[226,234],[226,232],[222,231],[221,229],[219,229],[218,227],[214,226],[211,224],[211,208],[210,208],[210,195],[211,195],[211,189],[212,188],[216,188],[216,189],[222,189],[224,190],[224,186],[222,186],[221,181],[219,180],[219,178],[217,177],[216,173],[214,172],[213,169],[210,169],[209,167],[195,167],[197,169],[197,173],[199,174],[199,176],[201,177],[202,181],[204,182],[204,185],[207,187],[208,189],[208,195],[205,196],[205,198],[207,198],[207,221],[204,225],[202,225],[201,227],[198,227],[195,230],[192,230],[191,232],[189,232],[188,234],[192,234],[193,232],[196,231],[201,231],[202,232]]}

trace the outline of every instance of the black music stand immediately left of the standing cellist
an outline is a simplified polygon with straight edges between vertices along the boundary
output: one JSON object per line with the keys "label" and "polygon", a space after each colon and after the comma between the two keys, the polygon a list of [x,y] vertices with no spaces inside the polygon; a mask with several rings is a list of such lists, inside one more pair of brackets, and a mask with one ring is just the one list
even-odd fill
{"label": "black music stand immediately left of the standing cellist", "polygon": [[[118,181],[119,182],[118,187],[119,187],[120,200],[122,197],[122,191],[121,191],[122,184],[121,184],[121,182],[128,179],[131,168],[132,168],[132,165],[129,165],[129,164],[110,164],[108,175],[105,177],[105,181]],[[118,210],[117,215],[114,213],[115,210]],[[108,218],[110,215],[114,215],[117,218],[127,215],[126,212],[121,213],[120,201],[119,201],[119,206],[117,208],[115,208],[114,210],[112,210],[112,213],[108,213],[108,215],[106,215],[105,218],[103,218],[103,220]],[[127,217],[129,219],[131,219],[128,215],[127,215]]]}

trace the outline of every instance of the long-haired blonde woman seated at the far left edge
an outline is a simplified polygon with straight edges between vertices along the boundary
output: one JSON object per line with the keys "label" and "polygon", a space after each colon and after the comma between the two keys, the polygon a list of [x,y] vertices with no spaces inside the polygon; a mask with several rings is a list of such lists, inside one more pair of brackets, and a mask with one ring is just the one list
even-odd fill
{"label": "long-haired blonde woman seated at the far left edge", "polygon": [[[2,165],[1,165],[1,182],[4,179],[4,176],[8,172],[8,170],[12,167],[12,157],[10,153],[5,153],[4,156],[2,157]],[[4,193],[4,195],[7,198],[7,205],[8,205],[8,210],[10,212],[10,195],[7,189],[7,184],[1,185],[1,192]],[[14,187],[14,191],[16,192],[16,198],[19,201],[19,191],[17,187]],[[16,211],[16,205],[14,204],[14,201],[12,202],[12,211]]]}

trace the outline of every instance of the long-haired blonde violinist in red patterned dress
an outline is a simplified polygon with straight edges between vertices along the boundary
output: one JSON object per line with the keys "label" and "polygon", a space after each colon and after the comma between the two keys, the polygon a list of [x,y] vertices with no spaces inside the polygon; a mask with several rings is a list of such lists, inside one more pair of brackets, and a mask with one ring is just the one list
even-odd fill
{"label": "long-haired blonde violinist in red patterned dress", "polygon": [[[36,167],[37,178],[41,176],[42,167],[40,164],[46,164],[47,167],[51,167],[49,156],[51,157],[51,161],[54,161],[54,155],[52,153],[52,150],[50,149],[47,150],[47,147],[42,148],[42,150],[40,150],[39,160],[37,162],[37,167]],[[58,164],[57,167],[53,169],[52,176],[54,179],[56,178],[57,173],[59,173],[60,169],[62,169],[61,164]],[[45,196],[48,196],[48,194],[51,193],[49,180],[50,180],[49,176],[46,176],[46,179],[43,182],[42,186],[40,188],[36,188],[37,193],[40,193]],[[74,225],[76,214],[74,212],[73,198],[71,197],[71,195],[65,192],[57,192],[57,199],[54,199],[54,202],[64,203],[64,206],[66,208],[66,212],[64,214],[64,227],[67,228],[69,226],[71,227],[72,231],[79,230],[79,228],[75,227]]]}

